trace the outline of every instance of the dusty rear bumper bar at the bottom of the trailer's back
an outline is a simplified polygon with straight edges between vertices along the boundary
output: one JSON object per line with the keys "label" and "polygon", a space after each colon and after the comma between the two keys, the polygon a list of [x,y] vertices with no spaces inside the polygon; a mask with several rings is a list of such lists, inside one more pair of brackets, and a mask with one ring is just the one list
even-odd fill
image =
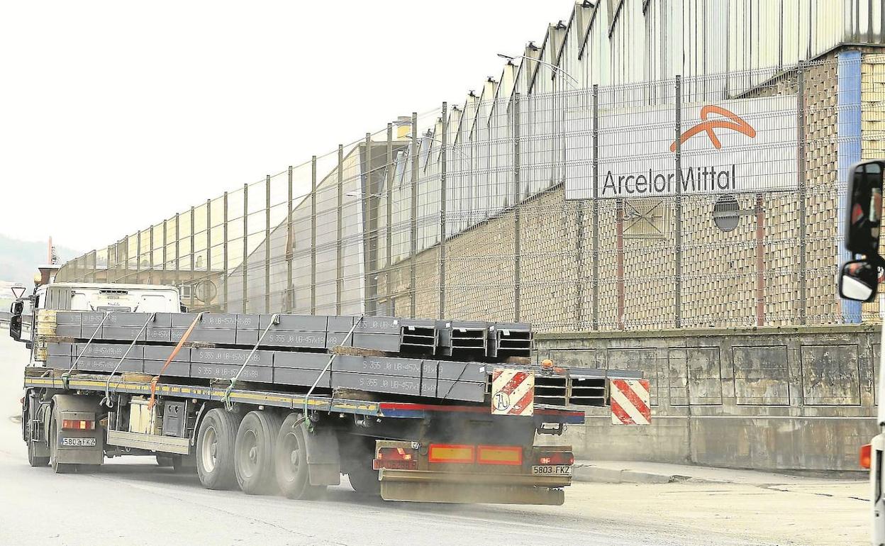
{"label": "dusty rear bumper bar at the bottom of the trailer's back", "polygon": [[381,498],[417,503],[552,504],[565,501],[571,476],[451,473],[382,468]]}

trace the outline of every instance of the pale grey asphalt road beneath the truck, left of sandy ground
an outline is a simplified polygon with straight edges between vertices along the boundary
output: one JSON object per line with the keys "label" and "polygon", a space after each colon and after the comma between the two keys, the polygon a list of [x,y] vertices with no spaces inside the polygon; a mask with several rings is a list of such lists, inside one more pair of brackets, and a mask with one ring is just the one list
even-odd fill
{"label": "pale grey asphalt road beneath the truck, left of sandy ground", "polygon": [[[6,544],[759,544],[709,524],[673,524],[612,504],[612,487],[576,484],[564,506],[384,503],[346,480],[318,501],[210,491],[148,458],[98,473],[27,465],[19,435],[23,345],[0,326],[0,545]],[[634,488],[636,495],[655,495]],[[684,508],[684,506],[683,506]]]}

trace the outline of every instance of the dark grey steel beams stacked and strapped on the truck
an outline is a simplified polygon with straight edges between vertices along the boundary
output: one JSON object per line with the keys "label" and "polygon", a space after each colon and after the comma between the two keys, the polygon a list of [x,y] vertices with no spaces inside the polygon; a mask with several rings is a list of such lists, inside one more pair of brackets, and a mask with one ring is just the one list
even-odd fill
{"label": "dark grey steel beams stacked and strapped on the truck", "polygon": [[[533,343],[527,324],[481,321],[79,311],[55,319],[50,368],[469,402],[487,399],[496,365],[527,365]],[[191,325],[189,343],[166,364]],[[514,357],[519,364],[507,364]],[[538,403],[604,404],[610,373],[558,370],[537,373]]]}

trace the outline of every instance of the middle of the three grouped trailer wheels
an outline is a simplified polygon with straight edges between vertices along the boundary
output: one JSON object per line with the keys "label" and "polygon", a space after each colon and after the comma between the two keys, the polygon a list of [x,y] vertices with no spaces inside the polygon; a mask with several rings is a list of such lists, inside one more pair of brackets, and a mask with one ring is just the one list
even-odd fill
{"label": "middle of the three grouped trailer wheels", "polygon": [[280,418],[271,411],[250,411],[236,432],[234,469],[243,493],[269,495],[276,488],[273,444],[280,434]]}

